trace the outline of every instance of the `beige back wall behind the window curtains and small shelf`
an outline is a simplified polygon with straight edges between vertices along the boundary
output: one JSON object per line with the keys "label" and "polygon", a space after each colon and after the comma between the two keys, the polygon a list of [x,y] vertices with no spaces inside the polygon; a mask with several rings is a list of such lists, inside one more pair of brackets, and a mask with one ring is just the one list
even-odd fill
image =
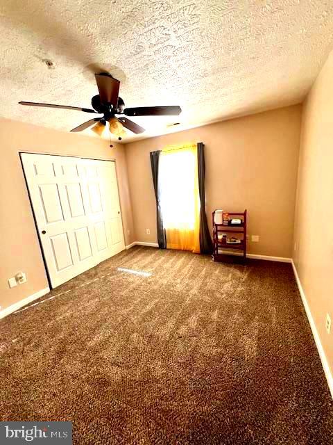
{"label": "beige back wall behind the window curtains and small shelf", "polygon": [[300,114],[290,106],[126,145],[135,241],[157,242],[149,152],[202,141],[209,224],[214,209],[247,208],[248,233],[260,236],[249,252],[291,257]]}

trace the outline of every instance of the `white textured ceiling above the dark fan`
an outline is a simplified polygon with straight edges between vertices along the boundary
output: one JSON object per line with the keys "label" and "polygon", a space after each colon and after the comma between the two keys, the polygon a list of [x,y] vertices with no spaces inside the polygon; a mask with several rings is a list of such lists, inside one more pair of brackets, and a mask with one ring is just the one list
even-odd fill
{"label": "white textured ceiling above the dark fan", "polygon": [[331,49],[333,1],[6,0],[0,32],[1,117],[76,127],[90,115],[17,102],[89,106],[99,66],[127,106],[182,107],[133,119],[148,137],[301,102]]}

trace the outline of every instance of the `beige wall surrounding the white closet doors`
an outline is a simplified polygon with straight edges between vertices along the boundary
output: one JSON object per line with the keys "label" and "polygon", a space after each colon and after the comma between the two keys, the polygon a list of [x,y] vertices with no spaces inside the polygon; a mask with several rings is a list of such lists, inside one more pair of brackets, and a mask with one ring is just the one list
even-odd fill
{"label": "beige wall surrounding the white closet doors", "polygon": [[[133,218],[124,145],[106,140],[0,120],[0,305],[1,309],[48,286],[19,151],[116,159],[126,245],[133,241]],[[128,234],[128,231],[130,233]],[[12,289],[8,278],[19,270],[28,281]]]}

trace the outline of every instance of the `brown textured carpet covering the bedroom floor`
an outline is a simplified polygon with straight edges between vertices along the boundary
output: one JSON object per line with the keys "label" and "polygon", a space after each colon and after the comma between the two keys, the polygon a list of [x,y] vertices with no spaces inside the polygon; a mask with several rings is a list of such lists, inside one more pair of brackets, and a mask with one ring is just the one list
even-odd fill
{"label": "brown textured carpet covering the bedroom floor", "polygon": [[290,264],[136,247],[41,300],[0,322],[1,420],[73,421],[80,445],[333,444]]}

